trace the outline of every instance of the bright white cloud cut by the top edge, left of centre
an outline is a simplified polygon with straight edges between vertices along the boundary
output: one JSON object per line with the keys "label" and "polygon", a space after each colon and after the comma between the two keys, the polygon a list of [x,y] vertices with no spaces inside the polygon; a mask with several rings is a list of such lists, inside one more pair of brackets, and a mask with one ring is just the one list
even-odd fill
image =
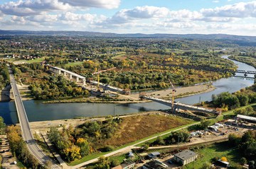
{"label": "bright white cloud cut by the top edge, left of centre", "polygon": [[118,8],[120,0],[59,0],[70,6],[94,8]]}

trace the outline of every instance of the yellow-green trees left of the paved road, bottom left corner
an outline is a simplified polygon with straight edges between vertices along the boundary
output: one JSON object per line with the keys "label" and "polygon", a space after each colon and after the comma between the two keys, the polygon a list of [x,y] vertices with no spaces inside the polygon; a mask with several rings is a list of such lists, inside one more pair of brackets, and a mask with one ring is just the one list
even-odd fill
{"label": "yellow-green trees left of the paved road, bottom left corner", "polygon": [[6,132],[11,152],[14,156],[28,168],[42,168],[36,158],[34,158],[28,151],[28,147],[21,136],[21,129],[18,126],[9,126],[6,129]]}

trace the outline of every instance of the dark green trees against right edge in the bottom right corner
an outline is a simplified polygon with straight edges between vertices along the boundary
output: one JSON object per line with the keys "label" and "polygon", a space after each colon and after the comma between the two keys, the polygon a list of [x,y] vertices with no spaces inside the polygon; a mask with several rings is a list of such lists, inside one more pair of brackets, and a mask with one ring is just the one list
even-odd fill
{"label": "dark green trees against right edge in the bottom right corner", "polygon": [[247,163],[249,164],[250,169],[256,168],[256,131],[249,130],[242,135],[242,138],[230,134],[228,136],[228,142],[230,146],[235,146],[238,148],[239,153],[242,154],[241,158],[242,165]]}

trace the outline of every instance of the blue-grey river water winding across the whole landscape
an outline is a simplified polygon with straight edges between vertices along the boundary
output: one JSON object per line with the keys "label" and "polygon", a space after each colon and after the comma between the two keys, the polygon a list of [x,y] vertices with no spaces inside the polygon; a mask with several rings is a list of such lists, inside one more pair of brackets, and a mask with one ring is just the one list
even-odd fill
{"label": "blue-grey river water winding across the whole landscape", "polygon": [[[228,59],[228,56],[223,56]],[[256,69],[247,64],[233,61],[240,70],[256,71]],[[252,76],[252,75],[250,75]],[[225,91],[233,93],[241,88],[252,86],[253,79],[238,77],[221,78],[213,82],[214,91],[191,95],[186,98],[178,98],[176,101],[187,104],[195,104],[200,101],[210,101],[211,95],[219,94]],[[29,122],[44,120],[72,119],[75,117],[98,117],[107,115],[126,115],[135,112],[165,110],[169,109],[166,105],[159,103],[132,103],[132,104],[106,104],[106,103],[54,103],[44,104],[41,101],[26,100],[23,101]],[[16,107],[14,102],[0,103],[0,116],[4,117],[6,124],[17,123]]]}

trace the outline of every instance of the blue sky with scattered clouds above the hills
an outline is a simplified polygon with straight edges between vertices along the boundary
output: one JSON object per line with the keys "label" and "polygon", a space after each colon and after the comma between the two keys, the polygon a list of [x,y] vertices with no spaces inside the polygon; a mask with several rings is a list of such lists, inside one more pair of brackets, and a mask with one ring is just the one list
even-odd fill
{"label": "blue sky with scattered clouds above the hills", "polygon": [[0,29],[256,36],[256,1],[1,0]]}

